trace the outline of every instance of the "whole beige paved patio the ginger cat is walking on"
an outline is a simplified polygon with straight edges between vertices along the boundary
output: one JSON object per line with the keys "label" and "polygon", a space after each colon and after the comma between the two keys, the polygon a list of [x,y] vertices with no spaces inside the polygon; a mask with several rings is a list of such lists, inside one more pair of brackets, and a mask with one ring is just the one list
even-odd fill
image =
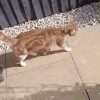
{"label": "whole beige paved patio the ginger cat is walking on", "polygon": [[67,39],[71,52],[54,44],[48,55],[28,57],[26,67],[12,52],[1,54],[0,100],[100,100],[100,24]]}

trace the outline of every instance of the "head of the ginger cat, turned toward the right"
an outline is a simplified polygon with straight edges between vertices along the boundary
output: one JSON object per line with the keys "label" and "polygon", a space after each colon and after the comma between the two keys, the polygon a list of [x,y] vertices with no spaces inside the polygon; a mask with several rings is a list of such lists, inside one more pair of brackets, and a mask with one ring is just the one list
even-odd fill
{"label": "head of the ginger cat, turned toward the right", "polygon": [[69,36],[75,36],[77,34],[78,27],[76,21],[72,20],[68,23],[68,25],[64,28],[64,33]]}

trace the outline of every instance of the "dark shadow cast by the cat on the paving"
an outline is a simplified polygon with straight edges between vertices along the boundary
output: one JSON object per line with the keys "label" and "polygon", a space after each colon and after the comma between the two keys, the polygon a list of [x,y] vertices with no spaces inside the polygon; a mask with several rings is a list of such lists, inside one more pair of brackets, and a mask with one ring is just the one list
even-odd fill
{"label": "dark shadow cast by the cat on the paving", "polygon": [[[55,53],[61,53],[64,52],[64,50],[55,50],[48,52],[48,55],[53,55]],[[38,53],[37,56],[28,56],[26,60],[34,59],[36,57],[43,56],[42,53]],[[4,68],[11,68],[11,67],[21,67],[19,64],[19,58],[15,56],[13,52],[8,52],[5,54],[0,55],[0,65],[2,65]]]}

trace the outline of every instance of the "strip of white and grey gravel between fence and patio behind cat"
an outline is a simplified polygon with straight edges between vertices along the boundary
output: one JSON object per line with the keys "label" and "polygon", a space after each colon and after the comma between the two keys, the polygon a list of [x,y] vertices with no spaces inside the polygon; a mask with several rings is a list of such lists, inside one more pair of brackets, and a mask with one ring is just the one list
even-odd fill
{"label": "strip of white and grey gravel between fence and patio behind cat", "polygon": [[[14,38],[20,33],[37,28],[66,26],[72,19],[76,20],[78,28],[100,23],[100,2],[91,3],[69,12],[54,14],[38,20],[29,20],[28,22],[13,27],[4,28],[4,30],[1,31]],[[0,52],[4,52],[5,50],[8,50],[8,48],[9,47],[4,42],[0,41]]]}

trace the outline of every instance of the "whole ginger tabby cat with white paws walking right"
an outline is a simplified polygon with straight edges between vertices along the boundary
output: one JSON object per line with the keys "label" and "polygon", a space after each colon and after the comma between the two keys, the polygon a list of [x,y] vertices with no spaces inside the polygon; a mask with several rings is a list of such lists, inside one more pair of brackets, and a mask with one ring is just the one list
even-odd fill
{"label": "whole ginger tabby cat with white paws walking right", "polygon": [[77,25],[75,21],[69,22],[66,27],[61,28],[44,28],[25,32],[12,39],[0,32],[0,40],[6,42],[16,56],[20,58],[20,65],[26,66],[24,62],[28,55],[37,55],[42,52],[46,55],[50,51],[52,38],[55,38],[56,44],[65,51],[71,51],[65,42],[66,35],[76,35]]}

